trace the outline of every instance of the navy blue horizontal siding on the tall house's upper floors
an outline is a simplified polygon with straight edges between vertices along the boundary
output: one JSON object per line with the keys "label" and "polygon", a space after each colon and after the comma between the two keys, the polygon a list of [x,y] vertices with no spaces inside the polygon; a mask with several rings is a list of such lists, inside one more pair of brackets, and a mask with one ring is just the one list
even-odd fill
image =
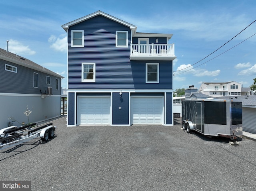
{"label": "navy blue horizontal siding on the tall house's upper floors", "polygon": [[[84,47],[71,47],[71,31],[81,29]],[[117,30],[128,31],[128,48],[116,47]],[[146,84],[145,63],[149,61],[130,61],[131,33],[122,24],[96,16],[70,27],[68,39],[69,89],[172,89],[172,61],[159,62],[159,84]],[[96,63],[96,82],[81,81],[82,62]]]}

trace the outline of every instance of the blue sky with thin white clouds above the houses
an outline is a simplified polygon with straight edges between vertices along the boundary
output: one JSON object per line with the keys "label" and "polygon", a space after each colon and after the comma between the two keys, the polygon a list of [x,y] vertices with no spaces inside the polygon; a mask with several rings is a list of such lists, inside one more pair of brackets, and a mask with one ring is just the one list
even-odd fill
{"label": "blue sky with thin white clouds above the houses", "polygon": [[0,48],[9,40],[9,51],[64,76],[66,88],[67,35],[61,25],[101,10],[137,26],[137,32],[173,34],[174,90],[202,82],[249,87],[256,77],[255,8],[255,0],[1,0]]}

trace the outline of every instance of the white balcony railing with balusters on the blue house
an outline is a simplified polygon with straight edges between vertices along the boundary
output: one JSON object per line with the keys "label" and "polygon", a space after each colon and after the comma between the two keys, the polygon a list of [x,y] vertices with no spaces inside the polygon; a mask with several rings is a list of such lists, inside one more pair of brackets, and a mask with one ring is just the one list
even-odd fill
{"label": "white balcony railing with balusters on the blue house", "polygon": [[174,55],[174,44],[131,44],[131,55]]}

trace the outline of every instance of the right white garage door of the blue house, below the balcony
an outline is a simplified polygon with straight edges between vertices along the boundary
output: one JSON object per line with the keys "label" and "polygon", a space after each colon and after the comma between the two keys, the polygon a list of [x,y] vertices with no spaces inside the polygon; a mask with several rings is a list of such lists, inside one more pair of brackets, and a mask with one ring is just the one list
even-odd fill
{"label": "right white garage door of the blue house, below the balcony", "polygon": [[163,97],[132,97],[131,98],[131,123],[160,124],[163,120]]}

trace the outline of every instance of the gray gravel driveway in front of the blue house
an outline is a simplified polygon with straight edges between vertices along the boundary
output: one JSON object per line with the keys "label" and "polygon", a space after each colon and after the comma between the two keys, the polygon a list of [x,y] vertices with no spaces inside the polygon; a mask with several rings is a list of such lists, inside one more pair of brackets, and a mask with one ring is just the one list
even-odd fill
{"label": "gray gravel driveway in front of the blue house", "polygon": [[1,181],[33,191],[254,191],[256,142],[187,134],[174,126],[77,126],[0,150]]}

